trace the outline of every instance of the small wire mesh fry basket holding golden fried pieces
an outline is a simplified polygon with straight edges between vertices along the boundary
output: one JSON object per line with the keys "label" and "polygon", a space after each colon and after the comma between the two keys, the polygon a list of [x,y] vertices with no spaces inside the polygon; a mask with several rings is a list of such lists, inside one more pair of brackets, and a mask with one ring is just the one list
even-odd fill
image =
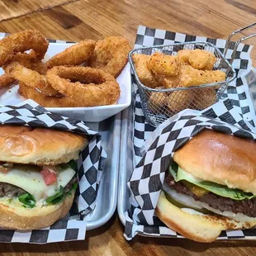
{"label": "small wire mesh fry basket holding golden fried pieces", "polygon": [[[160,52],[165,55],[177,55],[179,50],[196,49],[209,51],[216,56],[216,64],[214,64],[213,70],[223,71],[225,73],[225,81],[178,88],[149,88],[141,83],[135,69],[134,54],[153,55],[155,52]],[[145,119],[149,125],[155,127],[167,120],[168,117],[186,108],[202,110],[211,106],[220,99],[225,88],[235,79],[235,69],[232,68],[216,45],[208,42],[194,41],[138,48],[130,51],[129,61],[135,74],[135,82],[139,89],[141,107]]]}

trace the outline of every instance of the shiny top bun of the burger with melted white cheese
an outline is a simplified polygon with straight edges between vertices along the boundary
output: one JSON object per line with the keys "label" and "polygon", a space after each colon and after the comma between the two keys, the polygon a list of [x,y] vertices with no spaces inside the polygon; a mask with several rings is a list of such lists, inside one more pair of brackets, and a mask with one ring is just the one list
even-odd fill
{"label": "shiny top bun of the burger with melted white cheese", "polygon": [[78,159],[88,140],[69,131],[0,126],[0,161],[56,165]]}

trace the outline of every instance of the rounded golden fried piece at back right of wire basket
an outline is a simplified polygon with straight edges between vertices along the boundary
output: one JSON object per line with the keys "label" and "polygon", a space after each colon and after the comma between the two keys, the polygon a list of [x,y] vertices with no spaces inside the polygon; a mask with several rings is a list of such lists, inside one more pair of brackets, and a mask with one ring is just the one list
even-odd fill
{"label": "rounded golden fried piece at back right of wire basket", "polygon": [[195,69],[211,70],[216,63],[216,57],[209,51],[197,49],[192,50],[188,61]]}

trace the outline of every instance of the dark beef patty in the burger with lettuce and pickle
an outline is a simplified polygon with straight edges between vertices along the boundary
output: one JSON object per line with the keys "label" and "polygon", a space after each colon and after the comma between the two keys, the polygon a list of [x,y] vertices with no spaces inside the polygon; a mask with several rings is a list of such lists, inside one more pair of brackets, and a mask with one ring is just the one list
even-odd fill
{"label": "dark beef patty in the burger with lettuce and pickle", "polygon": [[219,211],[231,211],[235,214],[243,213],[249,217],[256,217],[256,198],[233,200],[228,197],[220,197],[212,192],[208,192],[206,195],[197,197],[186,187],[183,183],[176,183],[172,175],[168,175],[165,178],[165,182],[169,184],[176,192],[193,197],[196,201],[205,202],[209,206]]}

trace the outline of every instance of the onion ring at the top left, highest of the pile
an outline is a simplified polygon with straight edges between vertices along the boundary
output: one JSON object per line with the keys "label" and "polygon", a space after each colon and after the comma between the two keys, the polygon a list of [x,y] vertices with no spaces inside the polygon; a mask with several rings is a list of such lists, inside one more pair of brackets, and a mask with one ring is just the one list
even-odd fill
{"label": "onion ring at the top left, highest of the pile", "polygon": [[0,40],[0,66],[7,64],[17,53],[31,51],[31,55],[36,59],[43,59],[48,49],[49,42],[39,31],[22,31],[12,34]]}

